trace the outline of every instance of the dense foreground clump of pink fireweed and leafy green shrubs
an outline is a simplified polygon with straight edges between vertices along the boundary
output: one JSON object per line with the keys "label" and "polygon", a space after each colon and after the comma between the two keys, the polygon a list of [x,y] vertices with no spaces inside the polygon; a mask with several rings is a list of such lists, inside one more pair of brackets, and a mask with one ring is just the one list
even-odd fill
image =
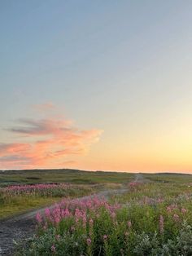
{"label": "dense foreground clump of pink fireweed and leafy green shrubs", "polygon": [[37,214],[37,234],[22,255],[192,255],[190,210],[65,200]]}

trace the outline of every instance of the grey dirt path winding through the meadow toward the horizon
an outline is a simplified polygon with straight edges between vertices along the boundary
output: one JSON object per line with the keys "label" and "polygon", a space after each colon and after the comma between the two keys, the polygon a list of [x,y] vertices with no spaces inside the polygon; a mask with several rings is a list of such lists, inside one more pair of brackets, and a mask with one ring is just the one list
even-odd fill
{"label": "grey dirt path winding through the meadow toward the horizon", "polygon": [[[111,195],[121,194],[127,190],[128,188],[111,189],[98,192],[92,196],[105,197],[107,199]],[[79,198],[79,200],[85,200],[89,197],[90,196],[83,196]],[[52,205],[49,208],[54,208],[54,206],[55,205]],[[35,230],[35,216],[37,212],[43,213],[46,208],[33,210],[27,214],[9,218],[6,221],[0,221],[0,256],[13,255],[13,249],[15,247],[14,241],[24,241],[24,239],[33,235]]]}

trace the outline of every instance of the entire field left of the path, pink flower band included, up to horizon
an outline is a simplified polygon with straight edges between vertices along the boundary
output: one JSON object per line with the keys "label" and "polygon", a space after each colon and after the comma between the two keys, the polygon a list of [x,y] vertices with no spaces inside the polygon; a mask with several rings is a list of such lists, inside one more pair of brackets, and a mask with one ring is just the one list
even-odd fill
{"label": "entire field left of the path, pink flower band included, up to horizon", "polygon": [[[107,188],[117,188],[121,183],[129,183],[132,179],[133,174],[81,170],[1,171],[0,219],[53,204],[61,201],[62,198],[80,197]],[[38,187],[38,184],[51,183],[57,186],[47,189]],[[33,184],[36,184],[36,187],[33,188]],[[61,184],[66,186],[62,187]],[[23,186],[22,189],[20,186]]]}

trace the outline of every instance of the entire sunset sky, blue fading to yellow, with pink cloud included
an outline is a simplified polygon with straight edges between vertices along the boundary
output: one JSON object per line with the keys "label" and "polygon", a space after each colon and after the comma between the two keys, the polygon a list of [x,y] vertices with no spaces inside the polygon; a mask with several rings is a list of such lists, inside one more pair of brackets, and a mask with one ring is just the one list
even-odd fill
{"label": "entire sunset sky, blue fading to yellow, with pink cloud included", "polygon": [[0,169],[192,172],[192,1],[0,1]]}

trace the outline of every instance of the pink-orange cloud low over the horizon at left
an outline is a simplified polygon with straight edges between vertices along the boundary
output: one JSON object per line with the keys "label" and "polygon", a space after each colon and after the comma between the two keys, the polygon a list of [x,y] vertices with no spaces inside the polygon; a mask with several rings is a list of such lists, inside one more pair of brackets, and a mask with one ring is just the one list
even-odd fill
{"label": "pink-orange cloud low over the horizon at left", "polygon": [[88,152],[102,133],[96,129],[80,130],[72,126],[72,121],[63,119],[22,118],[17,123],[7,130],[24,142],[0,143],[1,168],[55,168],[74,163],[71,157]]}

